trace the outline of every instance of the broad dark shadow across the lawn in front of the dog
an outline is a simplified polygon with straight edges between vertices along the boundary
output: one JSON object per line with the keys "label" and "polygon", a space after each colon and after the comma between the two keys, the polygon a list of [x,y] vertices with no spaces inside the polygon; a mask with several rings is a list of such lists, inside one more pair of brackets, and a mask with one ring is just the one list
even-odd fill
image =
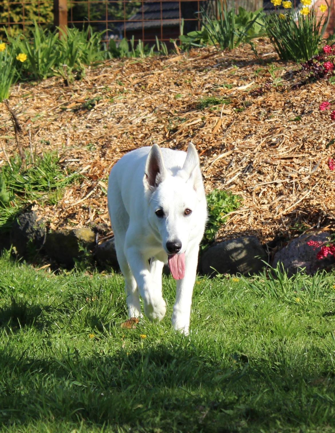
{"label": "broad dark shadow across the lawn in front of the dog", "polygon": [[88,358],[74,349],[58,358],[17,359],[4,349],[2,423],[85,420],[106,431],[237,432],[335,420],[332,397],[321,391],[334,395],[328,373],[313,383],[299,362],[249,361],[241,354],[214,361],[182,337],[179,346]]}

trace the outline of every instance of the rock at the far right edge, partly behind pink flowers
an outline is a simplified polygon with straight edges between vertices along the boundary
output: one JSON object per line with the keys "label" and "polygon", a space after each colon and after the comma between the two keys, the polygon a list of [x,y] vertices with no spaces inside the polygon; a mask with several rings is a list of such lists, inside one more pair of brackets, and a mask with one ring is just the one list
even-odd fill
{"label": "rock at the far right edge, partly behind pink flowers", "polygon": [[306,268],[308,275],[313,275],[319,269],[331,268],[335,264],[333,256],[325,259],[316,259],[316,254],[321,248],[314,249],[313,246],[307,245],[309,240],[317,242],[327,242],[330,233],[313,232],[292,239],[284,248],[275,253],[272,267],[275,268],[280,262],[289,275],[296,274],[301,268]]}

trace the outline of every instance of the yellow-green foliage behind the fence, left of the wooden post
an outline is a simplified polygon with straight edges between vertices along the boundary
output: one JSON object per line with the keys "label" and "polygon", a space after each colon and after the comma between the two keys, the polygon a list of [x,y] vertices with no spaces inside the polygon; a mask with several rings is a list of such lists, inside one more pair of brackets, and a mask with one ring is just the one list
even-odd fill
{"label": "yellow-green foliage behind the fence, left of the wooden post", "polygon": [[54,22],[53,3],[50,0],[29,0],[22,3],[12,0],[2,0],[0,2],[0,23],[11,23],[10,31],[5,26],[0,26],[0,36],[5,36],[9,31],[10,36],[22,33],[22,24],[26,23],[24,33],[28,34],[29,26],[37,21],[41,26],[51,26]]}

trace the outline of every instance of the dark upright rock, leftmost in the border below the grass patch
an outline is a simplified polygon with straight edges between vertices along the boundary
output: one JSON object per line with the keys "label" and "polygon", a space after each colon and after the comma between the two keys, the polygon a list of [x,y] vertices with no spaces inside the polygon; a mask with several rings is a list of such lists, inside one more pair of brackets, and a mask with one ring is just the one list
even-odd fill
{"label": "dark upright rock, leftmost in the border below the grass patch", "polygon": [[27,210],[16,217],[10,231],[10,243],[18,255],[27,257],[34,250],[40,249],[45,242],[45,221],[39,218],[35,210]]}

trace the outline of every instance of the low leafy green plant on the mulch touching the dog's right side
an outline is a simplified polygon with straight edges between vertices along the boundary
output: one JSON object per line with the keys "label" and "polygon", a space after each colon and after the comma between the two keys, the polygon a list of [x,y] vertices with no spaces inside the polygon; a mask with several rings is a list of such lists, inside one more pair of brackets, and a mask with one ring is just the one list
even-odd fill
{"label": "low leafy green plant on the mulch touching the dog's right side", "polygon": [[215,235],[227,220],[227,214],[240,207],[242,197],[234,195],[231,192],[214,189],[206,196],[208,220],[204,233],[202,248],[206,248],[209,243],[213,242]]}

